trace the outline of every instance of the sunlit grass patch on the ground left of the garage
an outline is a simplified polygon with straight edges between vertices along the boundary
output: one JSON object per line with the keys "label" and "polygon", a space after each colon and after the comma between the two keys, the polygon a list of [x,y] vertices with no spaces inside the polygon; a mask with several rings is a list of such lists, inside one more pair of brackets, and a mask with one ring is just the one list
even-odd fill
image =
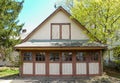
{"label": "sunlit grass patch on the ground left of the garage", "polygon": [[18,68],[0,67],[0,78],[19,74]]}

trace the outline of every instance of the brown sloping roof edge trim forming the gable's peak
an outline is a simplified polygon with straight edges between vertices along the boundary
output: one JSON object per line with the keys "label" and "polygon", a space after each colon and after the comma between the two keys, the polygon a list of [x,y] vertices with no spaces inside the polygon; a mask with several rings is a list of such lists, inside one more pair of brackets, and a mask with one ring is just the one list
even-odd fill
{"label": "brown sloping roof edge trim forming the gable's peak", "polygon": [[[59,7],[57,8],[50,16],[48,16],[40,25],[38,25],[24,40],[23,42],[26,42],[34,33],[36,33],[36,31],[38,31],[41,26],[48,21],[51,17],[53,17],[56,13],[58,13],[59,11],[62,11],[64,14],[66,14],[68,17],[70,17],[71,15],[63,8],[63,7]],[[90,33],[84,26],[82,26],[80,24],[80,22],[78,22],[76,19],[71,19],[73,22],[75,22],[77,25],[80,26],[81,29],[83,29],[84,31],[86,31],[87,33]]]}

